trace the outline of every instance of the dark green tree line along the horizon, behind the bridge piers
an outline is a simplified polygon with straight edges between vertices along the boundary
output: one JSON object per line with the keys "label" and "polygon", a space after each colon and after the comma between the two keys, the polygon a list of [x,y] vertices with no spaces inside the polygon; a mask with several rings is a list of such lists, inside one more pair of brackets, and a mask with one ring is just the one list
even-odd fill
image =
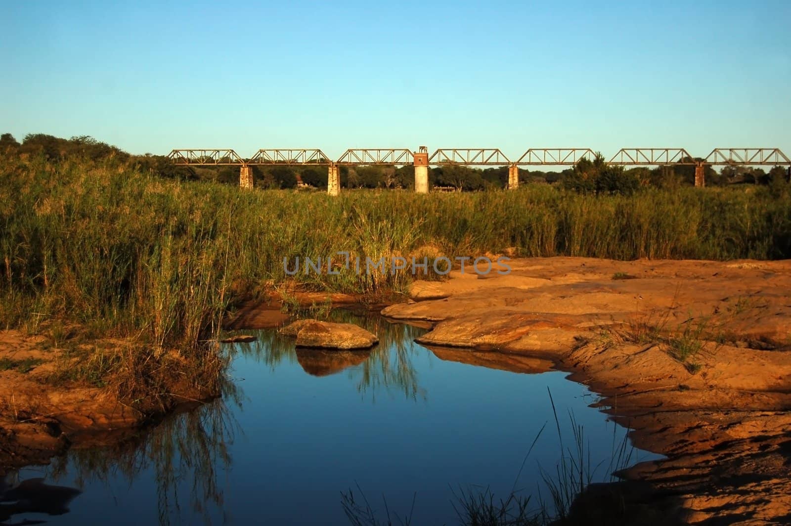
{"label": "dark green tree line along the horizon, behind the bridge piers", "polygon": [[[97,141],[86,135],[58,138],[47,134],[28,134],[18,142],[12,134],[0,135],[2,155],[42,155],[47,161],[66,158],[88,158],[93,161],[123,163],[144,172],[152,172],[168,179],[211,180],[225,184],[239,183],[238,166],[180,166],[164,155],[132,155],[116,146]],[[686,159],[685,161],[702,161]],[[261,166],[252,165],[256,187],[295,188],[327,187],[327,168],[316,166]],[[556,184],[580,193],[629,195],[640,187],[653,186],[673,189],[694,185],[694,165],[637,167],[625,169],[609,165],[597,153],[592,160],[581,159],[571,168],[560,172],[519,168],[520,184]],[[345,188],[403,188],[414,187],[414,167],[392,165],[340,166],[341,186]],[[775,166],[768,172],[763,168],[728,165],[714,170],[705,165],[706,186],[731,184],[783,184],[788,182],[787,168]],[[458,191],[480,191],[504,188],[508,184],[508,167],[472,168],[464,165],[445,165],[429,169],[429,183]]]}

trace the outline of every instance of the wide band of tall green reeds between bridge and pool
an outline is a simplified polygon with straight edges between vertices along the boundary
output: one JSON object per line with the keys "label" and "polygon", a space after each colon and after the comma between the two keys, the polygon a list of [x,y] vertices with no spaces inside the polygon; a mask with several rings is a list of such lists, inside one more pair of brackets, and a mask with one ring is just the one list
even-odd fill
{"label": "wide band of tall green reeds between bridge and pool", "polygon": [[[791,257],[791,196],[764,188],[517,191],[242,191],[92,161],[0,159],[0,322],[61,317],[134,335],[157,353],[199,344],[235,297],[297,282],[377,295],[407,271],[286,274],[283,259],[363,260],[509,248],[522,256]],[[336,256],[336,263],[342,261]],[[325,269],[326,270],[326,269]]]}

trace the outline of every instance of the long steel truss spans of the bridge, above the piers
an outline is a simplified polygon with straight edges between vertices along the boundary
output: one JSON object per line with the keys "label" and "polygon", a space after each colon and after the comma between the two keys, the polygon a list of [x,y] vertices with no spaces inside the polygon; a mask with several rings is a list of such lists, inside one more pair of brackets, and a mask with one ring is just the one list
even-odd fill
{"label": "long steel truss spans of the bridge, above the piers", "polygon": [[[423,151],[423,150],[422,150]],[[176,165],[308,166],[411,165],[408,148],[350,148],[337,160],[317,148],[262,148],[252,157],[240,157],[229,148],[174,149],[168,157]],[[499,148],[439,148],[428,157],[433,166],[573,166],[593,161],[590,148],[531,148],[512,161]],[[668,165],[791,165],[779,148],[715,148],[706,157],[693,157],[683,148],[622,148],[608,161],[621,166]]]}

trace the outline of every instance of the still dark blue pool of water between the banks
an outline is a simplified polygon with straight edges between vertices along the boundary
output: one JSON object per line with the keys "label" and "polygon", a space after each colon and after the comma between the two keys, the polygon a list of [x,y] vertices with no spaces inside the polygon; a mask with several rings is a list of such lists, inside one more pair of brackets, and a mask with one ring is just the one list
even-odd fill
{"label": "still dark blue pool of water between the banks", "polygon": [[[610,479],[626,430],[565,373],[429,350],[413,342],[422,329],[377,316],[354,323],[376,331],[379,346],[302,350],[248,331],[259,340],[229,346],[233,382],[221,399],[115,448],[73,449],[19,471],[82,493],[68,513],[21,513],[9,524],[349,524],[341,499],[350,489],[380,517],[386,498],[391,514],[412,510],[412,524],[457,524],[461,491],[505,498],[516,488],[536,507],[539,491],[546,501],[542,471],[556,476],[562,450],[575,448],[572,418],[593,480]],[[631,463],[656,458],[629,453]]]}

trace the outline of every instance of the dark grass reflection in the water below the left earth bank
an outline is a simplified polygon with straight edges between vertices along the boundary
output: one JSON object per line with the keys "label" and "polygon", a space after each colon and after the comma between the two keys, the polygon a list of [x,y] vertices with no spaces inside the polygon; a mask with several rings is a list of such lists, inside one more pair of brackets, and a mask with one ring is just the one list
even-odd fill
{"label": "dark grass reflection in the water below the left earth bank", "polygon": [[218,471],[227,471],[231,465],[229,445],[238,429],[226,401],[238,405],[240,391],[231,383],[224,387],[224,398],[195,411],[174,414],[118,445],[70,450],[51,464],[51,476],[59,479],[71,473],[78,486],[85,486],[87,482],[106,483],[121,474],[131,484],[142,471],[150,469],[157,484],[160,524],[184,522],[180,517],[183,497],[179,484],[191,480],[192,510],[210,522],[212,507],[221,509],[224,502]]}

